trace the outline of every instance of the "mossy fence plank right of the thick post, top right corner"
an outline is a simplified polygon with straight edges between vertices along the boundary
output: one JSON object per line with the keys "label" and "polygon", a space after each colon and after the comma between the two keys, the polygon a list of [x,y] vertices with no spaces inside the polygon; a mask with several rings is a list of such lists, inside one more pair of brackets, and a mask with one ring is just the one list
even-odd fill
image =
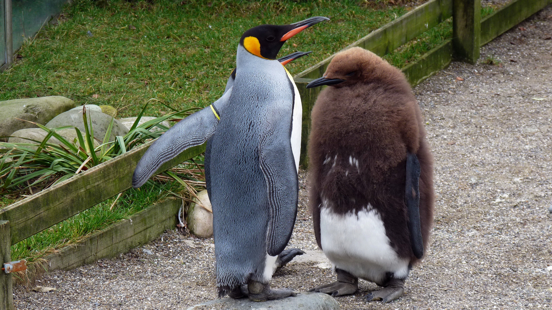
{"label": "mossy fence plank right of the thick post, top right corner", "polygon": [[514,0],[481,20],[481,45],[539,12],[552,0]]}

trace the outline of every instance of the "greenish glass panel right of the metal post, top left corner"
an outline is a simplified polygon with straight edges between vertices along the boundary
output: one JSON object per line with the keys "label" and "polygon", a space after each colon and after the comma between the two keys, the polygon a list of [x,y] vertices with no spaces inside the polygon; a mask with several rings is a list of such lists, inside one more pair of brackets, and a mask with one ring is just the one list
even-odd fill
{"label": "greenish glass panel right of the metal post, top left corner", "polygon": [[13,50],[33,38],[45,22],[61,12],[67,0],[12,0]]}

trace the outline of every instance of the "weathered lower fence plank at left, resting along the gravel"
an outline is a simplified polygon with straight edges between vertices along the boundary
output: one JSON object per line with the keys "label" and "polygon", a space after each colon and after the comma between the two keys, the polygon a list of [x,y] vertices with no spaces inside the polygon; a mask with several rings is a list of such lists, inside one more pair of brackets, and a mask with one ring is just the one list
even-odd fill
{"label": "weathered lower fence plank at left, resting along the gravel", "polygon": [[46,268],[50,271],[73,269],[146,244],[176,226],[176,215],[181,205],[179,199],[168,199],[136,212],[127,220],[93,233],[78,245],[67,246],[60,253],[48,255]]}

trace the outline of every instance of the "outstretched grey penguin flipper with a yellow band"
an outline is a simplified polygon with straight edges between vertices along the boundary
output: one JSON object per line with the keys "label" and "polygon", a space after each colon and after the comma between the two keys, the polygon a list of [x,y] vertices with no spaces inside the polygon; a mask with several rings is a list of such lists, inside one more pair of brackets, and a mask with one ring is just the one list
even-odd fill
{"label": "outstretched grey penguin flipper with a yellow band", "polygon": [[[213,106],[225,106],[231,93],[226,92],[213,103]],[[132,174],[132,187],[142,186],[163,163],[173,159],[187,148],[202,145],[213,136],[219,123],[214,109],[207,107],[189,115],[157,138],[136,165]]]}

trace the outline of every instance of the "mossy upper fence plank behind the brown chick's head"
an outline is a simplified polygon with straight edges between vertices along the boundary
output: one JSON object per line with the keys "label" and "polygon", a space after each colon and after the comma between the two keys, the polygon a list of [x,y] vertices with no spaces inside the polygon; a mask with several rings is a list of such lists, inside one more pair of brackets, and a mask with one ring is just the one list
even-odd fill
{"label": "mossy upper fence plank behind the brown chick's head", "polygon": [[[385,24],[383,27],[372,31],[343,50],[350,49],[353,46],[360,46],[379,56],[384,56],[451,16],[452,0],[431,0],[394,21]],[[321,77],[333,56],[335,54],[307,68],[295,77]]]}

